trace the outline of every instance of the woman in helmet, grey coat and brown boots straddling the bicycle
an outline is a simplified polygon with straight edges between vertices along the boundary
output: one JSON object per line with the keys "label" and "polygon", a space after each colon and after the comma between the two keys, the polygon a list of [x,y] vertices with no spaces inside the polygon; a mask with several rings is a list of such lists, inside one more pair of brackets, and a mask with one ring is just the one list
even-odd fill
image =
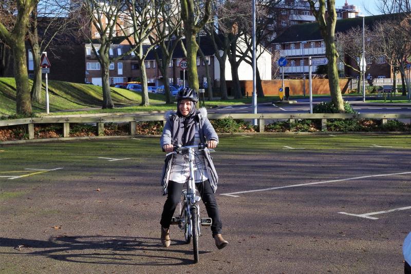
{"label": "woman in helmet, grey coat and brown boots straddling the bicycle", "polygon": [[[215,148],[218,136],[210,121],[207,119],[207,110],[196,109],[198,94],[191,88],[183,88],[177,94],[177,112],[167,112],[166,124],[160,139],[165,152],[172,152],[174,145],[190,146],[208,143],[208,148]],[[196,153],[195,184],[201,199],[206,206],[207,214],[212,219],[211,231],[215,245],[221,249],[228,242],[221,236],[222,223],[220,220],[217,201],[214,193],[217,189],[218,176],[209,152],[201,150]],[[163,195],[167,195],[163,213],[161,214],[161,242],[169,247],[169,228],[174,211],[180,202],[183,185],[190,177],[189,164],[182,154],[170,154],[165,159],[163,168]]]}

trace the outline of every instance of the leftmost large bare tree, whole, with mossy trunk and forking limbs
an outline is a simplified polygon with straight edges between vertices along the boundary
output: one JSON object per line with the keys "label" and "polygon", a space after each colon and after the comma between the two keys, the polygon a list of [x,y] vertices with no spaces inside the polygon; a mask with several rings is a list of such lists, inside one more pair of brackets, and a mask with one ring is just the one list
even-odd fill
{"label": "leftmost large bare tree, whole, with mossy trunk and forking limbs", "polygon": [[[0,22],[0,39],[13,52],[14,79],[16,81],[16,112],[29,114],[31,110],[30,87],[26,65],[25,37],[29,25],[30,13],[36,0],[16,0],[2,3],[1,16],[6,15],[7,23]],[[15,7],[15,8],[14,8]],[[10,10],[15,13],[10,14]],[[7,15],[12,15],[11,17]]]}

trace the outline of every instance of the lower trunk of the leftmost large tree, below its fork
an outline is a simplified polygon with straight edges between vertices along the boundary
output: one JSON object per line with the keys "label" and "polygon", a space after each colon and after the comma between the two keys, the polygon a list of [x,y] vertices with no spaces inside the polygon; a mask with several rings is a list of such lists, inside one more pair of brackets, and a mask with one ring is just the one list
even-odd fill
{"label": "lower trunk of the leftmost large tree, below its fork", "polygon": [[16,112],[31,114],[30,86],[26,66],[24,36],[16,37],[13,47],[14,79],[16,81]]}

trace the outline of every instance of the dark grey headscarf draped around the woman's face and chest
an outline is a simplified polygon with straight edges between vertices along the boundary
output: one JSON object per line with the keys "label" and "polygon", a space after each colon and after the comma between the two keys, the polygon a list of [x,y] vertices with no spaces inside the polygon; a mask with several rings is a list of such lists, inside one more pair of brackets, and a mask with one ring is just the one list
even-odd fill
{"label": "dark grey headscarf draped around the woman's face and chest", "polygon": [[173,128],[172,143],[175,145],[181,144],[183,146],[192,146],[194,144],[194,135],[196,133],[196,105],[191,101],[191,109],[189,114],[183,116],[179,108],[180,102],[181,101],[177,101],[177,123],[174,124],[175,126]]}

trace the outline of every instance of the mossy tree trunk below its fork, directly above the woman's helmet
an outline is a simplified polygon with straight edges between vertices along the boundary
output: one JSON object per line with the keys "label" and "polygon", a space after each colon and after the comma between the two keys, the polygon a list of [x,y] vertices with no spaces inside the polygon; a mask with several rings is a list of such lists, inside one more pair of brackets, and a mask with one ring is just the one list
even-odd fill
{"label": "mossy tree trunk below its fork, directly above the woman's helmet", "polygon": [[[186,27],[184,25],[184,27]],[[191,31],[191,28],[185,31],[186,35],[185,36],[185,49],[187,51],[187,71],[189,73],[188,75],[188,80],[189,80],[189,87],[194,89],[196,92],[198,92],[198,75],[197,75],[197,50],[198,50],[198,44],[196,41],[196,35],[192,34],[193,32]]]}

